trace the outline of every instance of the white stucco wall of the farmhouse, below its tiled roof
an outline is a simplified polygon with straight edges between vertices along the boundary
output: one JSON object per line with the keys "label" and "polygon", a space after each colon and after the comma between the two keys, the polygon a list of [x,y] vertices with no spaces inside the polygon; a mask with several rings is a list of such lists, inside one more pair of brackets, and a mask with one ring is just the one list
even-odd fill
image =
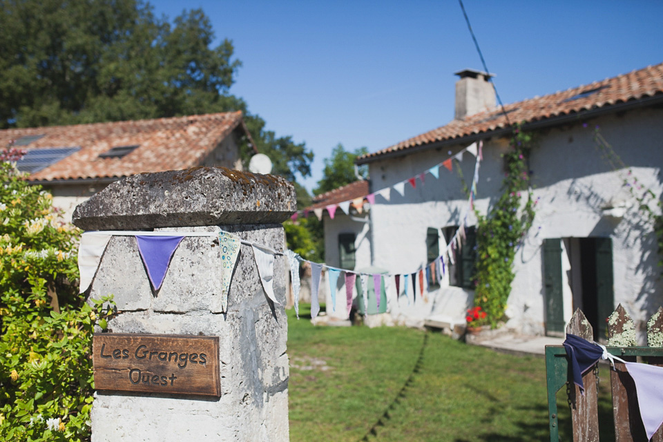
{"label": "white stucco wall of the farmhouse, below its tiled roof", "polygon": [[[610,216],[606,206],[635,204],[635,198],[623,186],[624,170],[612,171],[602,159],[593,141],[594,127],[601,133],[624,164],[631,166],[644,189],[651,189],[660,198],[663,181],[663,111],[640,109],[624,115],[607,115],[593,119],[588,127],[581,123],[547,129],[539,133],[539,144],[530,155],[533,171],[534,198],[538,199],[535,222],[523,247],[517,253],[516,277],[508,300],[507,326],[519,332],[543,334],[545,322],[543,262],[541,244],[545,238],[608,237],[613,247],[613,278],[615,307],[621,302],[633,319],[643,327],[657,307],[663,304],[663,285],[657,280],[657,253],[651,226],[643,224],[642,216],[631,207],[623,218]],[[422,151],[369,164],[372,191],[406,180],[445,160],[464,148],[454,146],[444,151]],[[476,206],[481,213],[499,195],[504,176],[501,153],[506,140],[486,140],[484,161],[479,172]],[[428,227],[446,227],[461,223],[466,209],[465,194],[456,173],[441,169],[439,180],[425,175],[425,185],[417,181],[416,189],[405,184],[405,195],[392,191],[386,201],[376,197],[371,210],[373,264],[390,273],[412,273],[425,265]],[[465,153],[461,162],[463,176],[470,183],[474,157]],[[336,220],[334,220],[336,221]],[[340,220],[339,220],[340,223]],[[470,215],[470,224],[473,224]],[[325,228],[331,231],[333,223]],[[327,241],[336,240],[335,233],[326,233]],[[328,249],[338,245],[327,244]],[[573,291],[570,287],[570,258],[563,244],[564,318],[573,312]],[[330,257],[331,258],[331,257]],[[359,262],[359,260],[358,260]],[[332,265],[333,262],[330,262]],[[401,289],[402,290],[402,289]],[[343,292],[345,293],[345,292]],[[396,300],[394,284],[390,288],[392,316],[402,322],[416,321],[432,314],[463,320],[471,305],[473,291],[448,287],[427,293],[427,301],[407,305],[405,298]]]}

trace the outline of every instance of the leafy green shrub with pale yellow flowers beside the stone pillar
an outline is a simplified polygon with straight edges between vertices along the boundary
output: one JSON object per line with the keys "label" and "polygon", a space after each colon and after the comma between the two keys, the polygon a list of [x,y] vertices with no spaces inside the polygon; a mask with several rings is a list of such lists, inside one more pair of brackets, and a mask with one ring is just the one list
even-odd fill
{"label": "leafy green shrub with pale yellow flowers beside the stone pillar", "polygon": [[1,440],[89,439],[91,338],[103,312],[74,284],[78,236],[49,193],[0,162]]}

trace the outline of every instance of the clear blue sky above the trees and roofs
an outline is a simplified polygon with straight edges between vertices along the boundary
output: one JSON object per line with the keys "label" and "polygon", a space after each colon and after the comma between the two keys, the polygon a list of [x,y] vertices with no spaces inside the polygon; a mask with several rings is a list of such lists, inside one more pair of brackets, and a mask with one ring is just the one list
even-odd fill
{"label": "clear blue sky above the trees and roofs", "polygon": [[[663,61],[663,1],[463,0],[507,104]],[[342,143],[378,151],[451,121],[454,72],[481,70],[456,0],[162,0],[202,8],[242,61],[231,93],[323,159]]]}

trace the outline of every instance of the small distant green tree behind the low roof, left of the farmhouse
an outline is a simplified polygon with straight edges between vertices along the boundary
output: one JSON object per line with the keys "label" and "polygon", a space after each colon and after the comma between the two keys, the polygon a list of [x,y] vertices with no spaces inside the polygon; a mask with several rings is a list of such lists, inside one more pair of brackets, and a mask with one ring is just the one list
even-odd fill
{"label": "small distant green tree behind the low roof, left of the farmhouse", "polygon": [[[314,189],[314,195],[320,195],[325,192],[338,189],[340,186],[350,184],[367,177],[365,166],[359,167],[355,172],[354,160],[360,155],[368,153],[368,149],[361,147],[354,152],[346,151],[343,144],[338,144],[332,151],[332,156],[325,158],[325,169],[323,169],[323,179],[318,181],[318,187]],[[357,176],[359,175],[359,177]]]}

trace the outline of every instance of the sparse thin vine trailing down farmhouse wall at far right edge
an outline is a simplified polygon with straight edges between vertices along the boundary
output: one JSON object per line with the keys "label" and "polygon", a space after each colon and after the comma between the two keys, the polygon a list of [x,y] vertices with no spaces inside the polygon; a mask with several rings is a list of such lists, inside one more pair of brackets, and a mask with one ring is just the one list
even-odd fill
{"label": "sparse thin vine trailing down farmhouse wall at far right edge", "polygon": [[[586,127],[587,124],[584,124]],[[617,171],[622,179],[622,186],[628,189],[628,193],[637,203],[637,211],[644,220],[651,225],[655,235],[658,251],[658,265],[663,267],[663,202],[656,198],[655,193],[644,186],[637,179],[631,167],[626,166],[622,159],[617,155],[613,146],[605,139],[601,133],[600,126],[594,127],[594,143],[602,158],[611,166],[613,171]],[[652,209],[654,206],[657,211]]]}

